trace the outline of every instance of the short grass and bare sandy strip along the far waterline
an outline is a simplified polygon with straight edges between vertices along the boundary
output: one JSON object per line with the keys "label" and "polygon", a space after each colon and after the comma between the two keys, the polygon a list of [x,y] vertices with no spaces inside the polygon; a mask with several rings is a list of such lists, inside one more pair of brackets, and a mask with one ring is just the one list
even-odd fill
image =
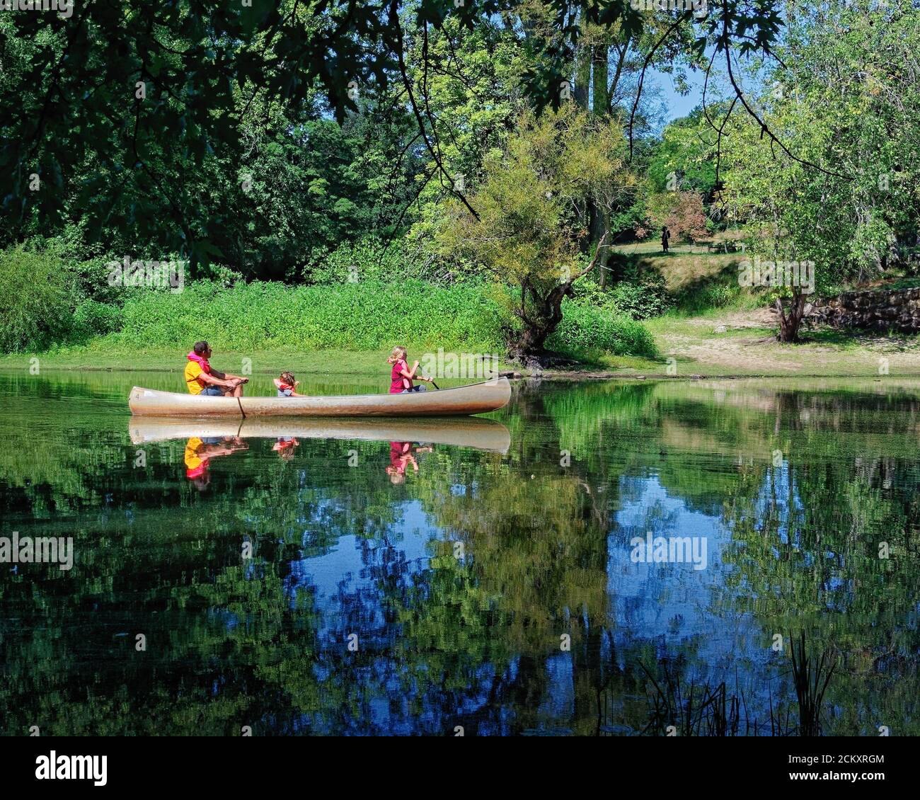
{"label": "short grass and bare sandy strip along the far waterline", "polygon": [[[801,344],[776,342],[771,315],[763,309],[714,310],[697,317],[665,316],[646,321],[661,356],[594,354],[567,367],[571,377],[920,377],[917,337],[843,334],[827,330],[806,334]],[[724,330],[723,330],[724,328]],[[408,342],[409,355],[431,352],[423,343]],[[121,369],[176,371],[185,365],[183,347],[134,346],[98,340],[88,346],[39,354],[40,369]],[[378,377],[387,370],[388,348],[365,350],[303,350],[289,346],[249,351],[215,348],[213,363],[238,372],[251,360],[254,374],[291,369],[304,376],[360,375]],[[0,369],[28,370],[29,354],[0,356]],[[668,359],[673,359],[669,364]],[[502,364],[511,369],[512,365]],[[563,370],[550,370],[558,375]]]}

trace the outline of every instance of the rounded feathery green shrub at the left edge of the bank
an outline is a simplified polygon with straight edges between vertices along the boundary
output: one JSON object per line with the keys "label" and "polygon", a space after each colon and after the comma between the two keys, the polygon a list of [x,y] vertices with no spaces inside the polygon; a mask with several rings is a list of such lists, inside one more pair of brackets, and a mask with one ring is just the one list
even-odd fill
{"label": "rounded feathery green shrub at the left edge of the bank", "polygon": [[72,327],[70,276],[48,252],[0,252],[0,351],[41,350]]}

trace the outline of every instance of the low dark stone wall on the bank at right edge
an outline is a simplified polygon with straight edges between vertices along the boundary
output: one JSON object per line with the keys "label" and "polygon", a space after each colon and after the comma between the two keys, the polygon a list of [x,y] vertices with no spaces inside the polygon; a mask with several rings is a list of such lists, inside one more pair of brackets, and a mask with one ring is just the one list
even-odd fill
{"label": "low dark stone wall on the bank at right edge", "polygon": [[920,332],[920,288],[870,289],[819,298],[806,308],[810,325],[862,330]]}

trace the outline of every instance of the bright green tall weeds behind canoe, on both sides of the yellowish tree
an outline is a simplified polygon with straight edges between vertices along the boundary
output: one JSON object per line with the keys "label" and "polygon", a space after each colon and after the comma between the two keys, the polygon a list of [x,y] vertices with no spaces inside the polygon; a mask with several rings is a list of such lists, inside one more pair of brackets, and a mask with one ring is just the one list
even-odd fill
{"label": "bright green tall weeds behind canoe, on both sides of the yellowish tree", "polygon": [[[655,352],[649,332],[632,319],[568,302],[564,315],[547,342],[550,347],[614,354]],[[178,295],[133,296],[121,310],[121,330],[109,338],[125,346],[206,339],[233,350],[272,346],[371,350],[414,342],[494,353],[504,349],[510,325],[489,284],[240,283],[224,288],[200,282]]]}

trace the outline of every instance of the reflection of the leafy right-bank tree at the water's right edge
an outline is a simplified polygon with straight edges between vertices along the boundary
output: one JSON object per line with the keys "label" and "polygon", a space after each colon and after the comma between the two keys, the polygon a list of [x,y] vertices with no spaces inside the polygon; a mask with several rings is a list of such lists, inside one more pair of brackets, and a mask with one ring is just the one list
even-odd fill
{"label": "reflection of the leafy right-bank tree at the water's right edge", "polygon": [[[783,396],[778,404],[792,416],[787,424],[784,415],[784,434],[804,430],[796,426],[800,398]],[[749,470],[725,505],[733,546],[723,560],[737,572],[722,588],[743,587],[736,605],[767,634],[793,627],[809,631],[819,651],[839,648],[826,732],[872,734],[886,720],[916,731],[910,698],[920,690],[920,642],[909,620],[920,596],[914,569],[920,473],[914,460],[867,455],[846,441],[838,450],[840,435],[816,435],[855,430],[867,412],[857,401],[811,399],[807,405],[807,431],[785,449],[784,462]],[[867,405],[873,412],[879,401]],[[909,421],[916,408],[913,401],[907,405]],[[891,549],[889,560],[879,558],[882,541]]]}

